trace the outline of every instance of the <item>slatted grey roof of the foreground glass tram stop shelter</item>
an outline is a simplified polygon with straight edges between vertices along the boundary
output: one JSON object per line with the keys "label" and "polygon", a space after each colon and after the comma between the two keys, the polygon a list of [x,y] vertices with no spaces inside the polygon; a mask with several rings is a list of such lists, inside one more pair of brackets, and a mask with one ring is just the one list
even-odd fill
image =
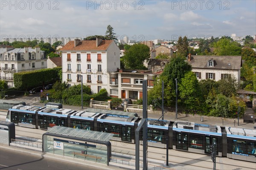
{"label": "slatted grey roof of the foreground glass tram stop shelter", "polygon": [[71,127],[54,126],[47,130],[45,134],[56,134],[62,136],[76,137],[81,139],[88,139],[98,142],[108,142],[112,139],[112,133],[97,132],[92,130],[76,129]]}

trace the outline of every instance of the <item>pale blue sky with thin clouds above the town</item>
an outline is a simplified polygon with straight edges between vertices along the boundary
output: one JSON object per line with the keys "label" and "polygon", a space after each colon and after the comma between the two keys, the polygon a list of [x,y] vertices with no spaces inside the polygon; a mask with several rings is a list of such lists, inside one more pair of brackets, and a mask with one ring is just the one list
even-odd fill
{"label": "pale blue sky with thin clouds above the town", "polygon": [[0,39],[87,37],[113,27],[118,39],[256,34],[256,0],[0,0]]}

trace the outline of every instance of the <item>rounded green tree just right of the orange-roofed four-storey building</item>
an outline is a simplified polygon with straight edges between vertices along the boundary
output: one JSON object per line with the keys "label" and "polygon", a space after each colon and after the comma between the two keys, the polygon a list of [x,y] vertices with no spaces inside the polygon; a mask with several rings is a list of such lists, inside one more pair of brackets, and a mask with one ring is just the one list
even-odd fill
{"label": "rounded green tree just right of the orange-roofed four-storey building", "polygon": [[122,58],[127,69],[143,70],[145,69],[143,62],[150,58],[149,47],[140,43],[132,45],[124,54]]}

